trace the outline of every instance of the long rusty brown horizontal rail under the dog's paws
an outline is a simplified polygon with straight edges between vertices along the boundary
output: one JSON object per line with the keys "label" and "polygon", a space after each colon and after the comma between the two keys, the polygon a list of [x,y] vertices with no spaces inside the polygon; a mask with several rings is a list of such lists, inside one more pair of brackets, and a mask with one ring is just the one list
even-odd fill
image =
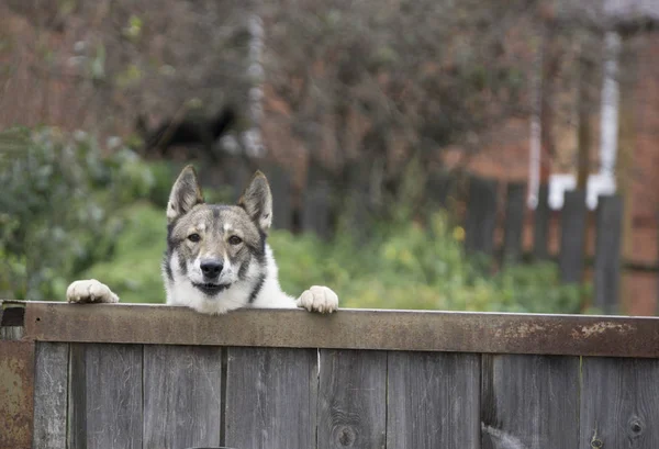
{"label": "long rusty brown horizontal rail under the dog's paws", "polygon": [[40,341],[264,346],[659,358],[659,318],[468,312],[245,310],[29,303]]}

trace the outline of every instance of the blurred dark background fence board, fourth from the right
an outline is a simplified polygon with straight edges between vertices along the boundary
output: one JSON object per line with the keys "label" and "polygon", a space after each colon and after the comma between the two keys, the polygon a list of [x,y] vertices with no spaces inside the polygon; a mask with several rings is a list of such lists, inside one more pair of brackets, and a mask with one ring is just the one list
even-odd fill
{"label": "blurred dark background fence board, fourth from the right", "polygon": [[526,212],[526,184],[510,183],[506,189],[503,258],[517,262],[522,257],[522,233]]}

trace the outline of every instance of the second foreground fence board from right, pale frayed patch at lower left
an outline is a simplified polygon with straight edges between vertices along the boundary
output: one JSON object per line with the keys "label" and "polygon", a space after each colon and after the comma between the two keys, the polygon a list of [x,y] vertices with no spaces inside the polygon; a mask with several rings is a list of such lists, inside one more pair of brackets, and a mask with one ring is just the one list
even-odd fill
{"label": "second foreground fence board from right, pale frayed patch at lower left", "polygon": [[484,355],[482,449],[577,448],[579,358]]}

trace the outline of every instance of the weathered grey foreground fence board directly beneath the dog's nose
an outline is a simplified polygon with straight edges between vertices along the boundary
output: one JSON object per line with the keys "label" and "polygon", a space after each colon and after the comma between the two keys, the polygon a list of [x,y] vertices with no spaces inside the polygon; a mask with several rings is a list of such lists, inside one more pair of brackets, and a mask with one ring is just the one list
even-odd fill
{"label": "weathered grey foreground fence board directly beneath the dog's nose", "polygon": [[219,446],[222,350],[144,347],[144,448]]}

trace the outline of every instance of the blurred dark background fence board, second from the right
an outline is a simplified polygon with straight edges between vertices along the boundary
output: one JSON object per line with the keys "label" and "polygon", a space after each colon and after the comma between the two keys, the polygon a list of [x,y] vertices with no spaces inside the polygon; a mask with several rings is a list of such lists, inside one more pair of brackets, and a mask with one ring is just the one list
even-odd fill
{"label": "blurred dark background fence board, second from the right", "polygon": [[560,280],[563,283],[581,282],[585,249],[585,191],[565,193],[560,220]]}

